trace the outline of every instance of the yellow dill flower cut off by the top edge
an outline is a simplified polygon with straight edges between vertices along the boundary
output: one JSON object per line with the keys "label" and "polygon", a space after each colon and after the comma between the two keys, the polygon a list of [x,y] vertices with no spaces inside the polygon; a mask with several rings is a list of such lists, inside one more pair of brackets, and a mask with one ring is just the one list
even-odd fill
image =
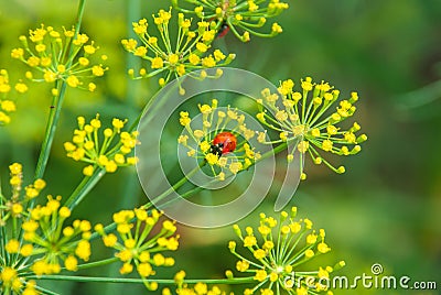
{"label": "yellow dill flower cut off by the top edge", "polygon": [[[267,20],[279,15],[288,9],[288,3],[279,0],[173,0],[174,7],[185,13],[194,13],[198,18],[215,21],[218,35],[232,32],[243,42],[250,40],[250,34],[261,37],[271,37],[282,32],[278,23],[272,23],[270,32],[263,33],[260,29]],[[184,8],[180,2],[187,2],[192,8]]]}

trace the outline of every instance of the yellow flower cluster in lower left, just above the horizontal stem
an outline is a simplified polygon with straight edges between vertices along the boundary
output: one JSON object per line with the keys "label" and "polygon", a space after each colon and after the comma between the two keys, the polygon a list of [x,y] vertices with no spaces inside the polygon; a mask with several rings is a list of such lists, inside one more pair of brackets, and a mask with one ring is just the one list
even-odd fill
{"label": "yellow flower cluster in lower left, just above the horizontal stem", "polygon": [[30,209],[29,220],[21,226],[28,243],[11,239],[6,245],[10,254],[36,255],[30,266],[36,275],[60,273],[62,262],[66,270],[76,271],[78,259],[88,261],[90,256],[90,222],[75,220],[72,226],[63,227],[71,210],[61,206],[60,200],[60,196],[47,196],[46,205]]}

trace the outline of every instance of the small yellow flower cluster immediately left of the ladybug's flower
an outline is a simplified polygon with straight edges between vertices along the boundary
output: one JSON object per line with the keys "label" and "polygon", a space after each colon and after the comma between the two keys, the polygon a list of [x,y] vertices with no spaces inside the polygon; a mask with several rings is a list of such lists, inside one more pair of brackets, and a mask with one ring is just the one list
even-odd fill
{"label": "small yellow flower cluster immediately left of the ladybug's flower", "polygon": [[67,156],[75,161],[89,163],[83,170],[85,176],[92,176],[97,167],[114,173],[118,167],[137,163],[135,156],[128,156],[138,143],[138,132],[121,131],[127,120],[114,118],[112,128],[106,128],[100,134],[99,114],[86,124],[84,117],[78,117],[78,129],[74,130],[72,142],[65,142]]}

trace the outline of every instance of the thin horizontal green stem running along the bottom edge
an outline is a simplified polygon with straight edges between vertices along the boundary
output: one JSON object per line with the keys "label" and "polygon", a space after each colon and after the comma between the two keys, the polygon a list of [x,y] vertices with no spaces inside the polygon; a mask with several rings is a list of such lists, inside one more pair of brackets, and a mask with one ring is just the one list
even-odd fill
{"label": "thin horizontal green stem running along the bottom edge", "polygon": [[[29,280],[51,280],[51,281],[74,281],[74,282],[95,282],[95,283],[132,283],[132,284],[143,284],[146,282],[157,282],[158,284],[174,285],[174,280],[165,278],[129,278],[129,277],[100,277],[100,276],[79,276],[79,275],[30,275]],[[233,278],[192,278],[185,280],[187,284],[196,284],[198,282],[205,284],[247,284],[252,283],[255,278],[249,277],[233,277]]]}

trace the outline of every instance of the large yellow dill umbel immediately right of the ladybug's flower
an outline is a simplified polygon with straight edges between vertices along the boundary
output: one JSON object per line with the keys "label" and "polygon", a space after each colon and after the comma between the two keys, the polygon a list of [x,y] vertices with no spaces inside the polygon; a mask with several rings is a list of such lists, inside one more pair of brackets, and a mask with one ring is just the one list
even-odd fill
{"label": "large yellow dill umbel immediately right of the ladybug's flower", "polygon": [[[361,125],[357,122],[347,129],[341,125],[355,113],[357,92],[352,92],[347,99],[338,100],[340,90],[325,81],[313,83],[311,77],[301,80],[299,91],[293,87],[294,83],[291,79],[282,81],[278,88],[281,99],[277,94],[263,89],[261,111],[257,118],[269,129],[279,132],[280,139],[272,143],[299,140],[297,151],[301,157],[302,179],[306,178],[303,172],[303,157],[306,153],[315,164],[324,163],[332,171],[344,173],[344,166],[334,167],[321,153],[346,156],[357,154],[362,150],[359,144],[366,141],[367,136],[356,134]],[[275,114],[269,114],[263,107]],[[261,142],[263,141],[261,136]],[[288,161],[293,160],[294,152],[295,149],[289,153]]]}

